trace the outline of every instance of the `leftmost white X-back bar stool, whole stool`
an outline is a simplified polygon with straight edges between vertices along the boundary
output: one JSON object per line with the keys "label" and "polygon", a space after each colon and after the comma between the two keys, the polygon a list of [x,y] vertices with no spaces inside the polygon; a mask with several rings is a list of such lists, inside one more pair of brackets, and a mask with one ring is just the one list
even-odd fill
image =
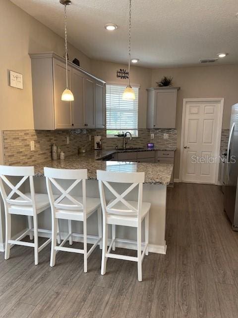
{"label": "leftmost white X-back bar stool, whole stool", "polygon": [[[51,242],[51,239],[48,239],[41,246],[38,246],[37,215],[48,209],[50,207],[50,202],[47,194],[35,193],[33,175],[34,167],[0,165],[0,193],[5,208],[5,259],[8,259],[10,256],[10,247],[12,244],[30,246],[34,247],[35,265],[37,265],[39,262],[38,253]],[[13,185],[9,181],[8,176],[22,178],[16,185]],[[23,193],[19,189],[22,186],[24,187],[24,183],[28,181],[28,178],[30,193]],[[11,190],[8,195],[5,191],[6,186]],[[13,199],[12,197],[16,195],[17,197]],[[11,214],[28,216],[29,228],[17,239],[11,239]],[[30,235],[30,239],[33,239],[32,231],[34,233],[34,243],[21,241],[27,234]]]}

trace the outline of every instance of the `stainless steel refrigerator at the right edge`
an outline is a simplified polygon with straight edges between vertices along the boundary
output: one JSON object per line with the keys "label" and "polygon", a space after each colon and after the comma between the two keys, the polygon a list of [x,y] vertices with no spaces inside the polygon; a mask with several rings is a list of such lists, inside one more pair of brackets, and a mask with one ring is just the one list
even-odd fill
{"label": "stainless steel refrigerator at the right edge", "polygon": [[232,106],[227,158],[223,174],[224,209],[238,231],[238,104]]}

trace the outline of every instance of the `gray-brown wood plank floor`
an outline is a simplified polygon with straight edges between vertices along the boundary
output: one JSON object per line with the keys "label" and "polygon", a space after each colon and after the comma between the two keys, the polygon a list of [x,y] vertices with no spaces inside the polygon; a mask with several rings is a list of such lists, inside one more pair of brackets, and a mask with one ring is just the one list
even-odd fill
{"label": "gray-brown wood plank floor", "polygon": [[117,259],[101,276],[99,248],[84,274],[82,255],[59,252],[51,268],[48,246],[35,266],[33,249],[14,246],[7,261],[0,253],[0,318],[237,318],[238,233],[220,187],[168,189],[166,240],[166,255],[145,257],[142,282],[136,263]]}

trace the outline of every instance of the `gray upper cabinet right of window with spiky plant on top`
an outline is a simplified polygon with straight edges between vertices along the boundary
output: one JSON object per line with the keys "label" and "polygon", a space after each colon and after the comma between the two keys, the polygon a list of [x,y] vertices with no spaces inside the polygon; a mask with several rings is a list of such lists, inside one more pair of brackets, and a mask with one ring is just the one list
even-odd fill
{"label": "gray upper cabinet right of window with spiky plant on top", "polygon": [[176,128],[179,89],[180,87],[147,88],[147,128]]}

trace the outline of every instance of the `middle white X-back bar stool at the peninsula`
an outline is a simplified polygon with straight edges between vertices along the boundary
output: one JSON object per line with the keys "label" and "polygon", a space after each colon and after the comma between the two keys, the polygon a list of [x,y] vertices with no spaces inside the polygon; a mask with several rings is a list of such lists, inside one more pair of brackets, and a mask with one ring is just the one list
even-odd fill
{"label": "middle white X-back bar stool at the peninsula", "polygon": [[[87,258],[92,251],[102,240],[102,210],[99,198],[86,197],[86,179],[87,169],[70,170],[70,169],[55,169],[44,168],[46,177],[47,191],[51,203],[52,211],[52,245],[51,245],[51,266],[55,266],[56,253],[61,251],[81,253],[84,255],[84,272],[87,272]],[[63,187],[56,181],[59,180],[74,180],[73,183],[64,190]],[[82,181],[82,197],[75,197],[70,195],[74,187]],[[60,196],[57,200],[54,199],[52,192],[52,184],[60,191]],[[95,211],[98,214],[98,239],[95,244],[87,252],[87,218],[89,218]],[[68,235],[57,246],[57,219],[68,220]],[[63,247],[64,243],[69,240],[72,244],[72,229],[71,220],[83,222],[83,249]],[[100,243],[101,248],[101,243]]]}

